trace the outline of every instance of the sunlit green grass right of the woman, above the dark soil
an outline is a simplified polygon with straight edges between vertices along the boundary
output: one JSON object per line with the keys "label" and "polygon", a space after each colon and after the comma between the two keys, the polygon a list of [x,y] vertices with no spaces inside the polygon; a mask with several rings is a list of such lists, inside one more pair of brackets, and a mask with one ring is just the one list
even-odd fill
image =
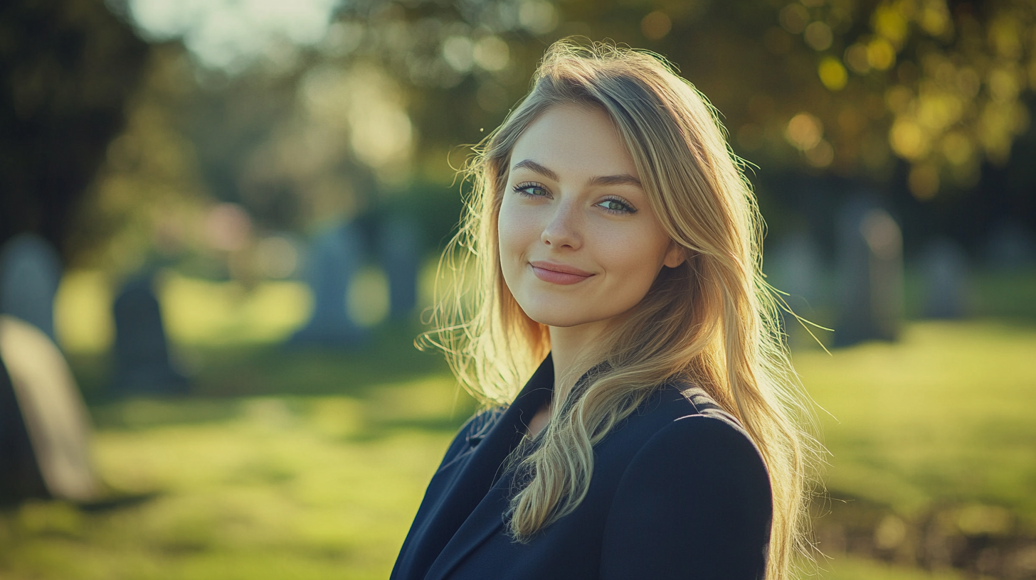
{"label": "sunlit green grass right of the woman, above the dark soil", "polygon": [[832,453],[828,487],[905,517],[1010,509],[1036,529],[1036,331],[924,322],[899,343],[795,356]]}

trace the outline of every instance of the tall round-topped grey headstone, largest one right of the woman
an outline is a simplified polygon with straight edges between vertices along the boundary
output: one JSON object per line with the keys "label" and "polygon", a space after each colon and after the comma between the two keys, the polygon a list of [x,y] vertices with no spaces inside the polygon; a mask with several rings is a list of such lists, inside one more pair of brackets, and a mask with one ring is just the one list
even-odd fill
{"label": "tall round-topped grey headstone, largest one right of the woman", "polygon": [[845,205],[837,225],[840,302],[835,346],[895,340],[902,319],[902,234],[867,198]]}

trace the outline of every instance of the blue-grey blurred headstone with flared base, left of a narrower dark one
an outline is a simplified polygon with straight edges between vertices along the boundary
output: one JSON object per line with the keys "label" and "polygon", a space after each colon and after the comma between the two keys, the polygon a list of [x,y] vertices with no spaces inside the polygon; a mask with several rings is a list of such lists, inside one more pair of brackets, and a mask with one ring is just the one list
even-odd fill
{"label": "blue-grey blurred headstone with flared base, left of a narrower dark one", "polygon": [[341,345],[363,339],[363,329],[349,318],[346,309],[349,284],[363,263],[362,239],[354,225],[341,224],[313,240],[306,260],[313,315],[291,337],[292,344]]}

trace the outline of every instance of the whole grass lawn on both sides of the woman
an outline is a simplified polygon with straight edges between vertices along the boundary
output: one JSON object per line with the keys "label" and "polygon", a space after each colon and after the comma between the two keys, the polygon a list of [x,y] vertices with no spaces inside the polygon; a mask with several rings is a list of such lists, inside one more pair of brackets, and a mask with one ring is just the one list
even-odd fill
{"label": "whole grass lawn on both sides of the woman", "polygon": [[[77,361],[99,474],[147,495],[0,512],[0,580],[387,577],[473,404],[434,356],[376,339],[346,355],[189,352],[199,374],[183,399],[106,400],[103,365]],[[965,527],[1007,514],[1031,529],[1034,353],[1036,327],[999,322],[917,323],[895,345],[798,352],[803,382],[830,412],[821,421],[833,505],[865,500],[905,521],[949,505]],[[831,555],[828,580],[963,577]]]}

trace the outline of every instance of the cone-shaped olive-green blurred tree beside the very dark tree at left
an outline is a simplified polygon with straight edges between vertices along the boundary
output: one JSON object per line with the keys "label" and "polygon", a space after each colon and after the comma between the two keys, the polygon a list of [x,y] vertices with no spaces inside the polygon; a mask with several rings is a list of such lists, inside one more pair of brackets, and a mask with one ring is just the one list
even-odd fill
{"label": "cone-shaped olive-green blurred tree beside the very dark tree at left", "polygon": [[126,126],[103,149],[105,162],[68,232],[78,262],[100,252],[113,269],[130,272],[149,259],[207,250],[200,243],[204,232],[184,231],[204,224],[211,198],[181,126],[182,110],[196,91],[180,54],[168,46],[149,54],[125,105]]}

